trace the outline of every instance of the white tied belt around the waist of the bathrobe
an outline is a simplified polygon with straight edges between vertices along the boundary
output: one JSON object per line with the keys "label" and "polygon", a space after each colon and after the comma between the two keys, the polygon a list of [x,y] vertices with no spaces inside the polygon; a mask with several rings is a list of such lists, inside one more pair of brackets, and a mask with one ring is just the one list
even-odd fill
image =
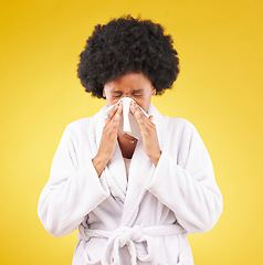
{"label": "white tied belt around the waist of the bathrobe", "polygon": [[[80,225],[78,227],[78,240],[90,241],[91,237],[108,239],[104,253],[102,253],[101,263],[90,262],[87,264],[102,264],[102,265],[120,265],[119,250],[127,246],[130,254],[130,264],[136,265],[136,259],[140,262],[152,262],[156,257],[155,250],[155,236],[166,235],[178,235],[187,236],[186,230],[178,224],[167,225],[152,225],[152,226],[140,226],[136,225],[133,227],[120,226],[114,231],[106,230],[90,230]],[[144,247],[146,244],[146,250]]]}

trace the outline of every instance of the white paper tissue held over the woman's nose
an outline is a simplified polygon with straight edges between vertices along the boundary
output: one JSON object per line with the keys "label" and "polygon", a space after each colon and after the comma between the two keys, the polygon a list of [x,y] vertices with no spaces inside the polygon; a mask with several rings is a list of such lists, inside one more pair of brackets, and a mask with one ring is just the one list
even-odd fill
{"label": "white paper tissue held over the woman's nose", "polygon": [[[116,104],[108,107],[106,109],[106,113],[109,114],[113,110],[114,106],[117,105],[119,102],[123,102],[123,114],[122,114],[120,120],[119,120],[119,131],[123,135],[127,134],[127,135],[135,137],[136,139],[139,139],[140,138],[139,125],[138,125],[135,116],[129,110],[129,106],[130,106],[132,102],[134,102],[138,106],[138,104],[133,98],[123,97]],[[149,115],[140,106],[138,106],[138,107],[148,118]]]}

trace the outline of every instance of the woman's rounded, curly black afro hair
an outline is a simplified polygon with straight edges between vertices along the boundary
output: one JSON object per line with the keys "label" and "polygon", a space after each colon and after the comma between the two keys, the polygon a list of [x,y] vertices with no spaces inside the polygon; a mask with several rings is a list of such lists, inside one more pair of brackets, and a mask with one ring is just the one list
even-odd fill
{"label": "woman's rounded, curly black afro hair", "polygon": [[80,55],[77,77],[86,92],[101,98],[107,82],[141,72],[160,95],[171,88],[179,73],[172,43],[164,28],[150,20],[127,15],[97,24]]}

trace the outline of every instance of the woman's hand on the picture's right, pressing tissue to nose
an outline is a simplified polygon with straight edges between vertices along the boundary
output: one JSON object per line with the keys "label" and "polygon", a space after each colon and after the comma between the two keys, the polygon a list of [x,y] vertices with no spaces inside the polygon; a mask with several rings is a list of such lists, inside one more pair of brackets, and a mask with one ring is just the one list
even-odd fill
{"label": "woman's hand on the picture's right, pressing tissue to nose", "polygon": [[154,116],[151,115],[148,118],[134,102],[130,104],[130,112],[139,124],[145,152],[151,162],[157,166],[161,151],[158,142],[156,126],[152,123]]}

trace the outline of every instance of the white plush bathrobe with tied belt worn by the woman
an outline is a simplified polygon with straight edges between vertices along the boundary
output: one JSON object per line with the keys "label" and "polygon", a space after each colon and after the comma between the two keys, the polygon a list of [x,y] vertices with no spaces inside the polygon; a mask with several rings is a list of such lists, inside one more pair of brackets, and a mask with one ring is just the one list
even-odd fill
{"label": "white plush bathrobe with tied belt worn by the woman", "polygon": [[128,181],[118,144],[98,177],[92,159],[106,108],[66,127],[40,197],[42,224],[53,236],[78,227],[73,265],[192,265],[187,235],[211,230],[222,211],[212,162],[197,129],[150,105],[161,149],[157,167],[140,138]]}

